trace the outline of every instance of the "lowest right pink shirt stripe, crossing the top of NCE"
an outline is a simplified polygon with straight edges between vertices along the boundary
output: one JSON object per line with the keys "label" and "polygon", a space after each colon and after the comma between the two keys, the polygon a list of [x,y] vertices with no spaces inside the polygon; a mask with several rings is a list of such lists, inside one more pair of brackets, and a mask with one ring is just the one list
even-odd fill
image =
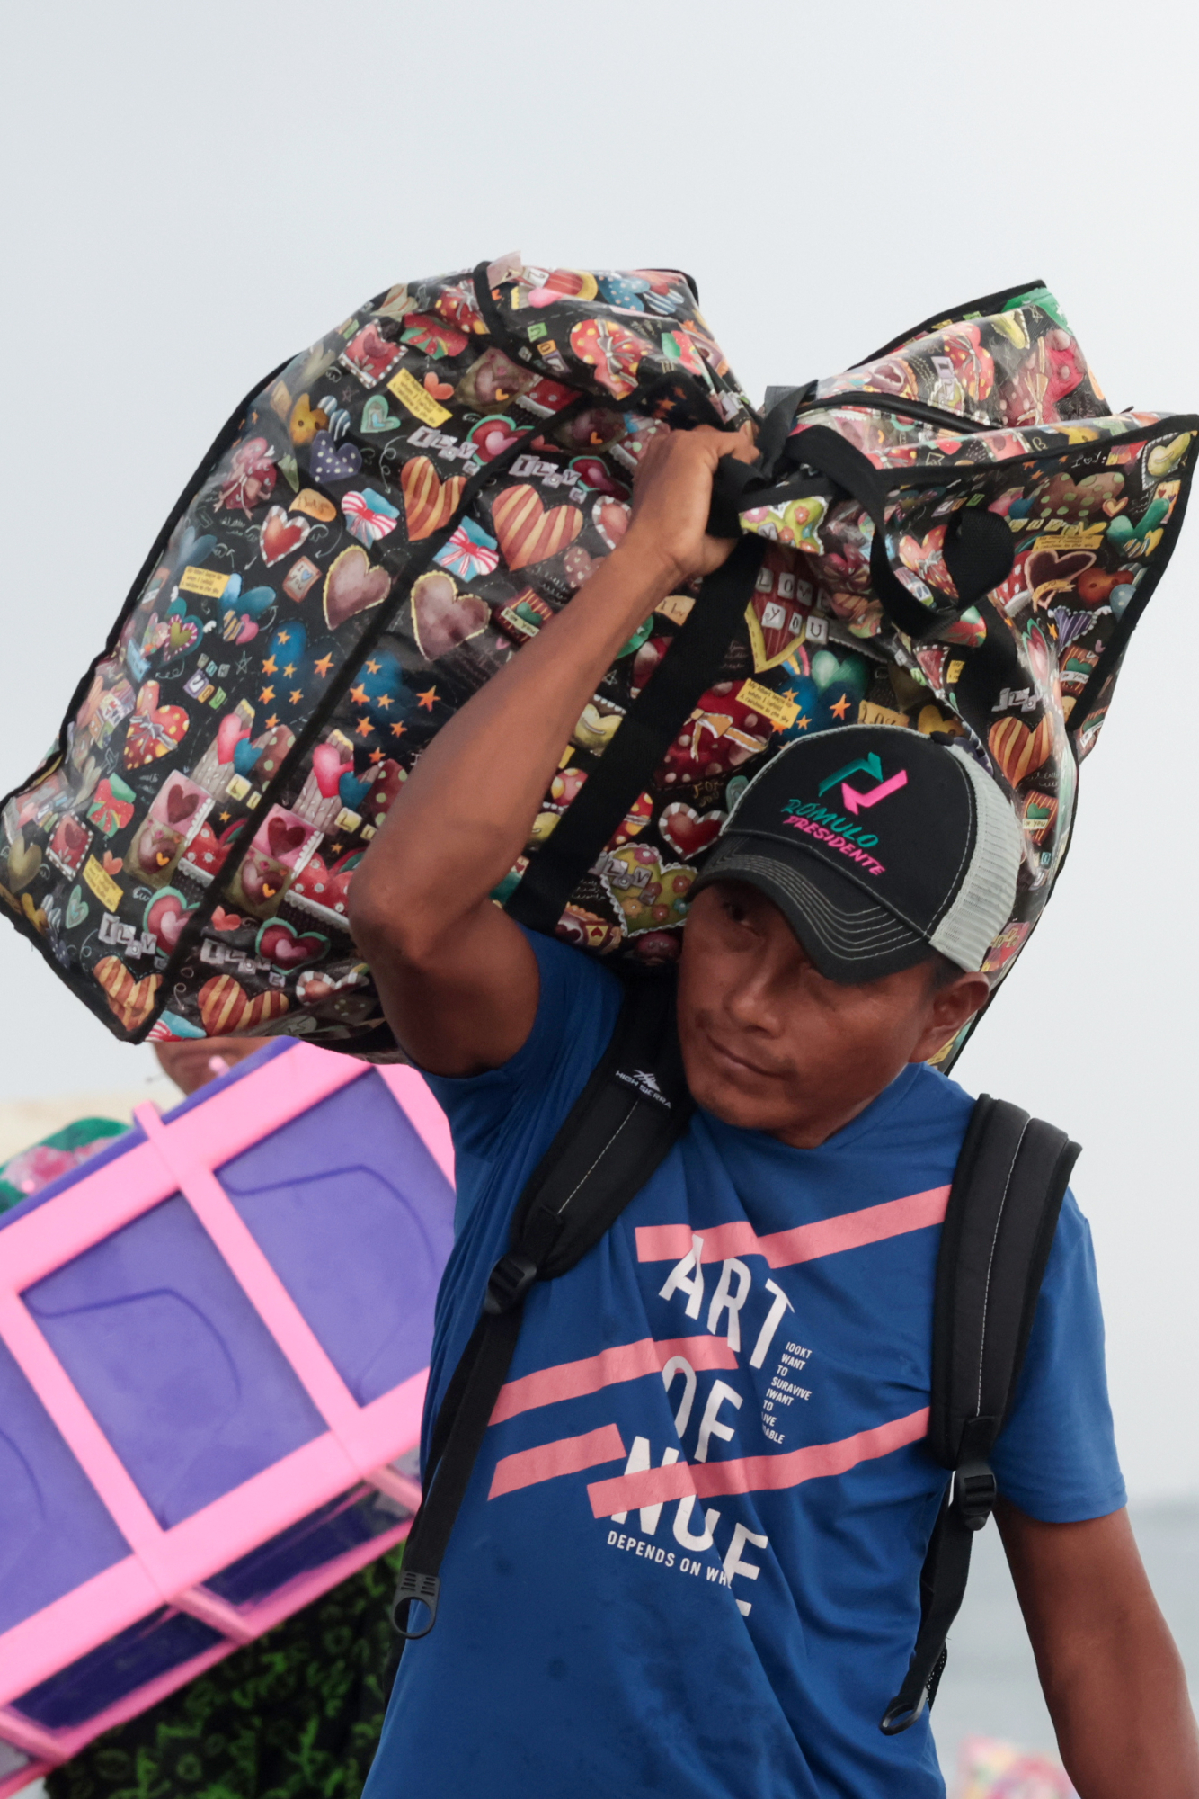
{"label": "lowest right pink shirt stripe, crossing the top of NCE", "polygon": [[611,1481],[593,1481],[588,1486],[591,1513],[609,1518],[613,1511],[635,1511],[658,1506],[669,1499],[715,1499],[719,1493],[755,1493],[771,1488],[800,1486],[822,1475],[845,1473],[857,1463],[890,1455],[892,1450],[919,1443],[928,1434],[928,1407],[895,1418],[874,1430],[859,1430],[839,1443],[813,1443],[786,1455],[742,1455],[719,1463],[671,1463],[665,1468],[645,1468],[642,1473],[622,1473]]}

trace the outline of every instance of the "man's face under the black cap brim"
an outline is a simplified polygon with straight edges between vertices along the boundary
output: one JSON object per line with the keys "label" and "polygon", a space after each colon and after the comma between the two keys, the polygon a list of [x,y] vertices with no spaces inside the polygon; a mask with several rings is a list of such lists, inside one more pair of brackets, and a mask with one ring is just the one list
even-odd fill
{"label": "man's face under the black cap brim", "polygon": [[814,1148],[908,1061],[935,1054],[985,997],[985,975],[938,988],[929,962],[856,986],[829,980],[764,894],[715,882],[683,932],[687,1081],[724,1123]]}

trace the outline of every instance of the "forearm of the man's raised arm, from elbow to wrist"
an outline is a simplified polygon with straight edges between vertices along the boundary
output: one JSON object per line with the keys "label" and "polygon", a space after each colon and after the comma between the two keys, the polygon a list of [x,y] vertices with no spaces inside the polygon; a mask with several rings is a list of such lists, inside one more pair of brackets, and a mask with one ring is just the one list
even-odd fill
{"label": "forearm of the man's raised arm, from elbow to wrist", "polygon": [[419,944],[503,880],[582,707],[676,583],[667,558],[626,540],[442,727],[354,878],[360,928],[403,921]]}

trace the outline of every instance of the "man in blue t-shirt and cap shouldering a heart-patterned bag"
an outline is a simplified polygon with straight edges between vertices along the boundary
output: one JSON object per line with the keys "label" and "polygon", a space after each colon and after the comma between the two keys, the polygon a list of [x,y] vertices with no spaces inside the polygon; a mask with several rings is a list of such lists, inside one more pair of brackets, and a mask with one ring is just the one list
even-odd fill
{"label": "man in blue t-shirt and cap shouldering a heart-patterned bag", "polygon": [[[430,1416],[620,1002],[609,971],[489,894],[602,671],[726,556],[705,534],[726,453],[753,450],[706,428],[651,446],[622,545],[440,732],[354,882],[358,943],[455,1132]],[[816,820],[822,781],[841,813],[843,784],[877,788],[868,829]],[[920,1436],[937,1223],[971,1103],[926,1063],[987,997],[1017,862],[994,801],[962,752],[861,727],[796,745],[744,795],[685,930],[696,1117],[597,1249],[525,1302],[367,1799],[944,1792],[928,1716],[897,1738],[877,1722],[944,1488]],[[872,1214],[883,1236],[852,1216],[872,1207],[892,1207]],[[679,1461],[703,1497],[663,1482]],[[1197,1799],[1071,1200],[994,1466],[1082,1799]]]}

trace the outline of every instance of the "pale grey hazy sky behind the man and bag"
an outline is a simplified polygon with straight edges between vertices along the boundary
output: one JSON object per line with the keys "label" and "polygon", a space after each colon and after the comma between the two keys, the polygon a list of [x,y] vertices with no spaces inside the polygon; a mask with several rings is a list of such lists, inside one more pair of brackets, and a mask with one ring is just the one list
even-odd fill
{"label": "pale grey hazy sky behind the man and bag", "polygon": [[[226,414],[392,281],[687,268],[760,398],[1043,275],[1113,408],[1199,410],[1195,31],[1181,0],[11,7],[0,790]],[[1141,1499],[1199,1493],[1197,577],[1192,518],[958,1065],[1084,1144]],[[0,1101],[153,1072],[2,921],[0,982]]]}

